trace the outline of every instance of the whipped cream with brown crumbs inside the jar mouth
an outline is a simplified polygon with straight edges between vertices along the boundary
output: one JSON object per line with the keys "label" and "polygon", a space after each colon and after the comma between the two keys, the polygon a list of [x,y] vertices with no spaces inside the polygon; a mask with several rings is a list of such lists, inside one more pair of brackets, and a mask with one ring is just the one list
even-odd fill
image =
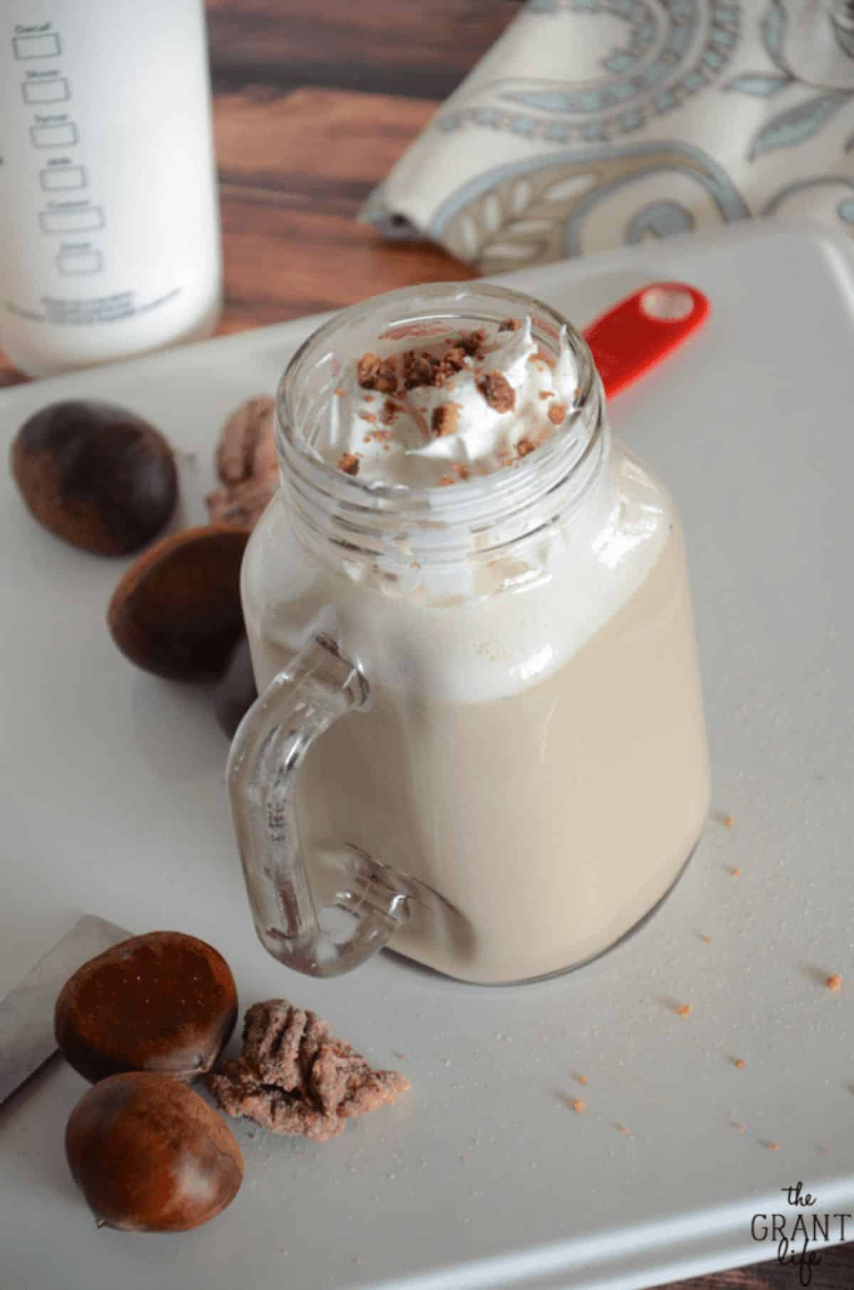
{"label": "whipped cream with brown crumbs inside the jar mouth", "polygon": [[462,484],[546,442],[571,410],[577,383],[566,333],[552,359],[529,317],[440,335],[393,333],[342,370],[311,448],[360,480]]}

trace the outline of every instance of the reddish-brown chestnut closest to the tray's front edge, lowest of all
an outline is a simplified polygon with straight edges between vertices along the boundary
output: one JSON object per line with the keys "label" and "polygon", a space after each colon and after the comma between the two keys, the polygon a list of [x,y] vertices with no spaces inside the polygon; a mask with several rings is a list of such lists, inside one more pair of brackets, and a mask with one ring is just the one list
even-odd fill
{"label": "reddish-brown chestnut closest to the tray's front edge, lowest of all", "polygon": [[66,1157],[98,1227],[188,1232],[240,1191],[244,1165],[227,1124],[163,1075],[112,1075],[83,1095]]}

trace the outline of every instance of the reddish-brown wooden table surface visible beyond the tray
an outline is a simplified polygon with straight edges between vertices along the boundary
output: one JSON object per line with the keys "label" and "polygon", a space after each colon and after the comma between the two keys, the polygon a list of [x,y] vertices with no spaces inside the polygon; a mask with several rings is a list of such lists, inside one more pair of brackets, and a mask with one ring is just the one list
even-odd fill
{"label": "reddish-brown wooden table surface visible beyond the tray", "polygon": [[[435,246],[383,243],[355,215],[519,9],[520,0],[208,0],[226,266],[219,332],[472,276]],[[0,355],[0,386],[23,379]],[[851,1290],[854,1244],[819,1253],[811,1290]],[[799,1285],[797,1268],[777,1260],[677,1284]]]}

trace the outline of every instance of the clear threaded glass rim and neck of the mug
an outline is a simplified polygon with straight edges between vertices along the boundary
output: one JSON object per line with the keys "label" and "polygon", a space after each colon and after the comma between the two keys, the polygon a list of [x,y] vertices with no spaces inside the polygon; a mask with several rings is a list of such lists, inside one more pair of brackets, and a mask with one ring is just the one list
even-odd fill
{"label": "clear threaded glass rim and neck of the mug", "polygon": [[[364,350],[387,333],[415,325],[477,326],[524,312],[535,341],[555,356],[565,335],[577,387],[562,426],[512,468],[459,481],[454,488],[413,489],[361,480],[324,462],[311,449],[312,422],[333,395],[334,360]],[[404,332],[405,334],[405,332]],[[423,332],[422,332],[423,334]],[[431,333],[432,334],[432,333]],[[515,552],[522,557],[556,525],[577,515],[608,459],[605,396],[584,338],[550,304],[482,283],[402,288],[343,310],[313,333],[290,360],[276,397],[276,442],[283,488],[295,533],[307,546],[348,564],[378,559],[409,586],[410,574],[459,570]]]}

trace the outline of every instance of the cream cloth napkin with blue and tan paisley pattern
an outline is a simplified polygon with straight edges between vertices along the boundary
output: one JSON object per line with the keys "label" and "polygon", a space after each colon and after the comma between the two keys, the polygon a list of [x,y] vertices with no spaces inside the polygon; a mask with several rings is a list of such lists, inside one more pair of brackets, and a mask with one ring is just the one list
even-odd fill
{"label": "cream cloth napkin with blue and tan paisley pattern", "polygon": [[854,236],[854,0],[529,0],[361,218],[493,273],[771,214]]}

